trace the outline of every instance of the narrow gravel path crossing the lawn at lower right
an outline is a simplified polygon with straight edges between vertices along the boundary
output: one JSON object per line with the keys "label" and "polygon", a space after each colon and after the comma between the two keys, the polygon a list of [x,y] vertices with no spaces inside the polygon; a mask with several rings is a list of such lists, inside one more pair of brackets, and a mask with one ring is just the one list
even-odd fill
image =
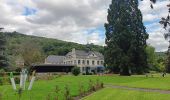
{"label": "narrow gravel path crossing the lawn at lower right", "polygon": [[117,86],[111,84],[105,84],[105,87],[110,88],[117,88],[117,89],[127,89],[127,90],[137,90],[137,91],[144,91],[144,92],[158,92],[162,94],[170,94],[170,90],[161,90],[161,89],[147,89],[147,88],[137,88],[137,87],[128,87],[128,86]]}

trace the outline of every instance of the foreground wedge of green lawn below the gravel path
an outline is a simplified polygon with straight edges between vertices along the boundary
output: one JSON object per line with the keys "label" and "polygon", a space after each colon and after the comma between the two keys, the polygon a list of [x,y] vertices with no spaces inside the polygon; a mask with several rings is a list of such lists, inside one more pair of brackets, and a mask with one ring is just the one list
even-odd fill
{"label": "foreground wedge of green lawn below the gravel path", "polygon": [[83,100],[169,100],[169,94],[104,88]]}

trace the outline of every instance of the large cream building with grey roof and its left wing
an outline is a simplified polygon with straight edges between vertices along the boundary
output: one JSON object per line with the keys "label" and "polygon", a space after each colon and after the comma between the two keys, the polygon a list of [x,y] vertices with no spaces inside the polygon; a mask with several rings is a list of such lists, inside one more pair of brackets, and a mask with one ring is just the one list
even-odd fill
{"label": "large cream building with grey roof and its left wing", "polygon": [[64,64],[80,67],[82,73],[97,73],[103,70],[104,57],[96,51],[82,51],[72,49],[65,56],[50,55],[46,64]]}

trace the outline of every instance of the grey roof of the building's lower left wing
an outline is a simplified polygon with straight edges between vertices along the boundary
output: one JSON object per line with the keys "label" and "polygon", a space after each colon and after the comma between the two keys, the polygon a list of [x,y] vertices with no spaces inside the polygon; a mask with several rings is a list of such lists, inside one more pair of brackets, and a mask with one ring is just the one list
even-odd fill
{"label": "grey roof of the building's lower left wing", "polygon": [[64,60],[64,56],[50,55],[46,58],[46,63],[58,64],[58,63],[63,63],[63,60]]}

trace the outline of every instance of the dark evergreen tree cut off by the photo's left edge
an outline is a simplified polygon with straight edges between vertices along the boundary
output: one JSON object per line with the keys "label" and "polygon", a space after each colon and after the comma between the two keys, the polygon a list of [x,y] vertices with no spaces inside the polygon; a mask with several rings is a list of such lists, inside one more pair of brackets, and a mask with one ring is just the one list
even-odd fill
{"label": "dark evergreen tree cut off by the photo's left edge", "polygon": [[[3,28],[0,28],[0,31]],[[0,32],[0,69],[8,65],[6,55],[5,55],[5,36]]]}

